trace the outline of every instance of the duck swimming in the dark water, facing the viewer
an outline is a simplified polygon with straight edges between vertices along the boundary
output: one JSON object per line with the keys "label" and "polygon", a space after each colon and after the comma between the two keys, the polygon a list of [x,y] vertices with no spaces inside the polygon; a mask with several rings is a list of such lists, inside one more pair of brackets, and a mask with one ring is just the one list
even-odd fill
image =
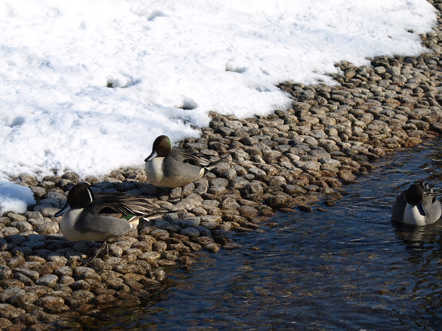
{"label": "duck swimming in the dark water, facing the viewer", "polygon": [[424,181],[410,185],[396,197],[392,207],[394,221],[411,225],[434,223],[441,213],[441,203]]}

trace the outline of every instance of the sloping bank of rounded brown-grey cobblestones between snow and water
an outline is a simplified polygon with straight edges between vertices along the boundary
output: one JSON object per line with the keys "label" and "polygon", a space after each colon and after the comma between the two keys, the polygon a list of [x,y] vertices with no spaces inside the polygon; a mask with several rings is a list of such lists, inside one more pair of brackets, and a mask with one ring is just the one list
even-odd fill
{"label": "sloping bank of rounded brown-grey cobblestones between snow and water", "polygon": [[[181,203],[146,183],[142,162],[102,181],[75,173],[43,181],[21,176],[37,205],[0,217],[0,328],[50,330],[49,323],[62,324],[64,317],[142,295],[165,279],[164,268],[191,270],[198,250],[236,248],[229,232],[265,231],[278,210],[324,210],[340,199],[343,185],[372,168],[370,161],[438,137],[441,37],[437,29],[422,36],[434,52],[419,57],[378,57],[360,68],[339,63],[340,86],[283,83],[294,100],[288,110],[249,119],[212,114],[201,137],[180,146],[229,157],[187,185]],[[77,259],[99,243],[67,241],[59,233],[61,218],[53,217],[79,181],[96,192],[143,195],[171,213],[114,241],[108,258],[81,265]],[[175,189],[172,197],[180,193]],[[181,208],[187,211],[173,212]]]}

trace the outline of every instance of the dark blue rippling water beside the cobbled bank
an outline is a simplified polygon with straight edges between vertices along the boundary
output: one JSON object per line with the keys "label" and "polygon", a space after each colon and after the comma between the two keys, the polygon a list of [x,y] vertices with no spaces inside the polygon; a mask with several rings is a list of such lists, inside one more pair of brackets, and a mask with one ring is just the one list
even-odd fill
{"label": "dark blue rippling water beside the cobbled bank", "polygon": [[[400,228],[398,192],[442,193],[442,142],[398,152],[326,212],[277,214],[241,248],[200,253],[195,271],[104,311],[99,330],[442,330],[442,222]],[[254,248],[254,249],[253,249]]]}

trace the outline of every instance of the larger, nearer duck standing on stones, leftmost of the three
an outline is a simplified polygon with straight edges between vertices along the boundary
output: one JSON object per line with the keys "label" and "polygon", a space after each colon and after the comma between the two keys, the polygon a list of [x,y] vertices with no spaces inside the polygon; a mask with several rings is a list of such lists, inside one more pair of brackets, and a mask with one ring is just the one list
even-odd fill
{"label": "larger, nearer duck standing on stones, leftmost of the three", "polygon": [[77,183],[68,193],[66,205],[54,216],[63,215],[61,233],[70,241],[103,241],[102,246],[82,263],[92,263],[104,250],[108,239],[121,237],[136,228],[140,219],[168,212],[143,197],[122,192],[94,193],[87,183]]}

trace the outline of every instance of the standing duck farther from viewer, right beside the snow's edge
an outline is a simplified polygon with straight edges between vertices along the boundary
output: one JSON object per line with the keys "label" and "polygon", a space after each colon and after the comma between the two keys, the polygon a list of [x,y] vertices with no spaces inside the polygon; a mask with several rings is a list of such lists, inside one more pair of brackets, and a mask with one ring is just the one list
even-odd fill
{"label": "standing duck farther from viewer, right beside the snow's edge", "polygon": [[[153,141],[152,152],[144,160],[144,171],[148,181],[155,186],[183,188],[201,179],[206,171],[213,169],[226,157],[211,162],[212,155],[192,152],[186,148],[172,148],[171,139],[161,135]],[[182,198],[183,190],[180,201]]]}

